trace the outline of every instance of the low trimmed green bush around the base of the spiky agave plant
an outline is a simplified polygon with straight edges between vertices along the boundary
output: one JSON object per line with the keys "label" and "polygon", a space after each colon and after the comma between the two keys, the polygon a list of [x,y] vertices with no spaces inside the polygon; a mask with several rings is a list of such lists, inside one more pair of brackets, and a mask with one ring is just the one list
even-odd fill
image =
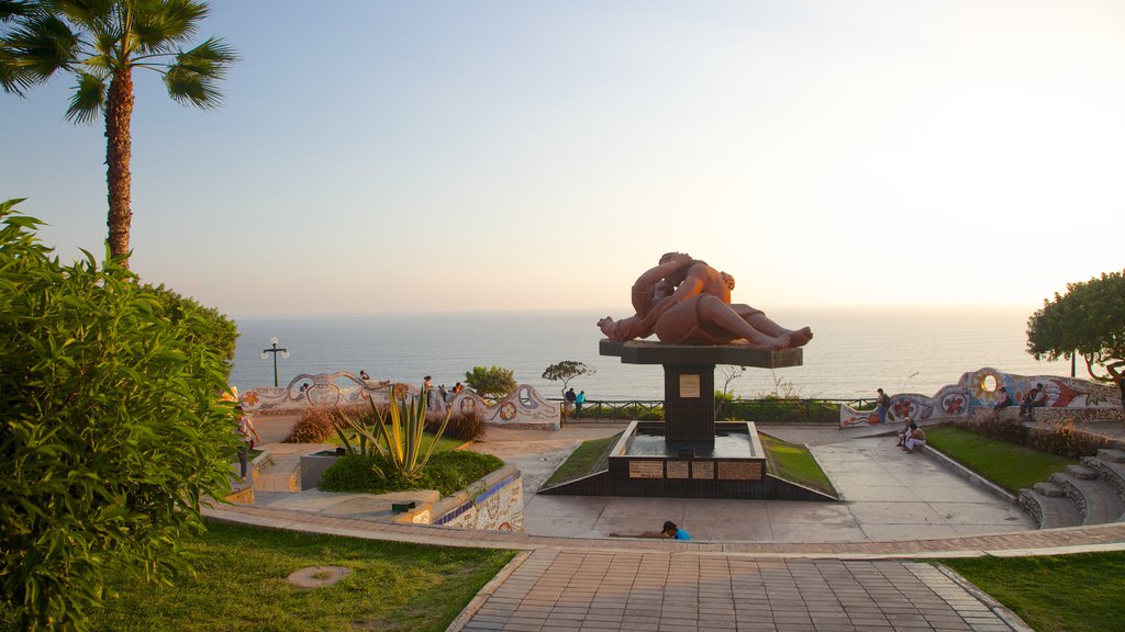
{"label": "low trimmed green bush around the base of the spiky agave plant", "polygon": [[341,457],[324,470],[320,489],[387,494],[407,489],[436,489],[442,496],[498,470],[504,461],[469,450],[435,453],[417,478],[408,479],[381,455]]}

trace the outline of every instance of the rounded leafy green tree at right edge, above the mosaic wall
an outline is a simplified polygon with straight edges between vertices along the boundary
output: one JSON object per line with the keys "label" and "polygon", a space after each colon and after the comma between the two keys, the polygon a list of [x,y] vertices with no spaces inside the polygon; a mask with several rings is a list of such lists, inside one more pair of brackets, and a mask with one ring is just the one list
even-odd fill
{"label": "rounded leafy green tree at right edge, above the mosaic wall", "polygon": [[[1078,353],[1097,381],[1116,382],[1125,407],[1125,277],[1120,272],[1066,283],[1027,320],[1027,352],[1036,360],[1070,359]],[[1105,373],[1100,373],[1101,367]]]}

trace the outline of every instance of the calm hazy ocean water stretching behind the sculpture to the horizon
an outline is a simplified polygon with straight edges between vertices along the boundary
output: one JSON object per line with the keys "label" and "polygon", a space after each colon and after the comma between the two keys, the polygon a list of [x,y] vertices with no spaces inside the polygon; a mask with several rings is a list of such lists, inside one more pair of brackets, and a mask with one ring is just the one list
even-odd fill
{"label": "calm hazy ocean water stretching behind the sculpture to the horizon", "polygon": [[[286,386],[300,373],[366,369],[372,379],[415,385],[433,376],[451,387],[477,365],[511,369],[516,381],[546,397],[560,382],[542,379],[543,369],[564,360],[596,373],[572,380],[590,399],[660,399],[660,367],[621,364],[597,354],[600,317],[612,312],[448,313],[309,319],[238,320],[232,383],[240,389],[273,385],[272,358],[261,359],[272,336],[289,350],[278,358]],[[770,312],[792,328],[809,325],[814,338],[804,365],[747,369],[730,382],[738,396],[771,392],[777,383],[801,397],[873,397],[876,388],[933,395],[966,371],[992,367],[1018,374],[1069,376],[1070,362],[1037,362],[1026,351],[1030,313],[1001,307],[802,308]],[[1079,367],[1082,377],[1083,369]],[[716,386],[722,388],[721,368]]]}

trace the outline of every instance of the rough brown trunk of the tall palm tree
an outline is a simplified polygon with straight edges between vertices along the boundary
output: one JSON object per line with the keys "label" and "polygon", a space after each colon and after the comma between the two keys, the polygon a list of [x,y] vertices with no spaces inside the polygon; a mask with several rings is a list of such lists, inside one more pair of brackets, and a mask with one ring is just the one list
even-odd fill
{"label": "rough brown trunk of the tall palm tree", "polygon": [[[129,252],[133,224],[129,191],[133,177],[130,120],[133,118],[133,69],[127,64],[114,73],[106,102],[106,181],[109,184],[109,252],[114,256]],[[128,259],[123,260],[128,268]]]}

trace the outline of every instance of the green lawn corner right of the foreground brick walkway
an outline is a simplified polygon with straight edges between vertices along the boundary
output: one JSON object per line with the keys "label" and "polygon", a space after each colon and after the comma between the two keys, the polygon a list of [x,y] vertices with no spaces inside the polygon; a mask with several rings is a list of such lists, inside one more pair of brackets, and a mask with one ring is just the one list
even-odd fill
{"label": "green lawn corner right of the foreground brick walkway", "polygon": [[1011,608],[1037,632],[1125,631],[1125,552],[952,559],[942,563]]}

